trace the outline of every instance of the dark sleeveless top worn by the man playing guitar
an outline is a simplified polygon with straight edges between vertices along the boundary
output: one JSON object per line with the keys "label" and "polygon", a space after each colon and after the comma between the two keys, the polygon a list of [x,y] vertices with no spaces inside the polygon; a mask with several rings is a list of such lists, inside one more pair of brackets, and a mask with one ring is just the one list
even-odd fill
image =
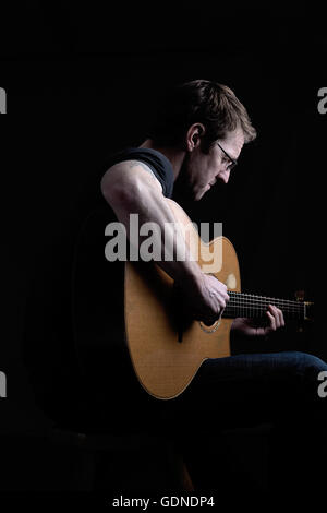
{"label": "dark sleeveless top worn by the man playing guitar", "polygon": [[[107,169],[122,160],[141,160],[158,178],[170,198],[173,171],[170,162],[149,148],[126,148],[107,160]],[[100,187],[100,184],[99,184]],[[117,216],[104,196],[84,220],[75,248],[73,266],[73,325],[81,370],[87,379],[95,408],[130,411],[131,405],[156,401],[142,389],[131,365],[124,332],[124,265],[105,258],[105,228]],[[101,408],[100,408],[101,409]],[[107,407],[105,408],[107,410]]]}

